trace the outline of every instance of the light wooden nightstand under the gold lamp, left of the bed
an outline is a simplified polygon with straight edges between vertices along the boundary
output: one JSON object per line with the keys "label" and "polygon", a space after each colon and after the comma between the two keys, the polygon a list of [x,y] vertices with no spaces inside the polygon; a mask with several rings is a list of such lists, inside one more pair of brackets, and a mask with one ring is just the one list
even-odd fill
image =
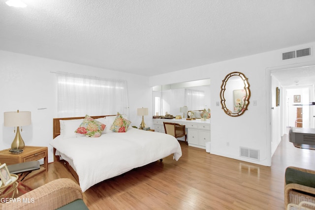
{"label": "light wooden nightstand under the gold lamp, left of the bed", "polygon": [[[33,172],[42,172],[46,169],[48,172],[48,148],[47,147],[33,147],[25,146],[23,152],[20,154],[12,154],[10,149],[0,151],[0,163],[6,163],[6,165],[12,165],[16,163],[24,163],[44,158],[44,168],[38,169]],[[37,174],[36,173],[36,174]]]}

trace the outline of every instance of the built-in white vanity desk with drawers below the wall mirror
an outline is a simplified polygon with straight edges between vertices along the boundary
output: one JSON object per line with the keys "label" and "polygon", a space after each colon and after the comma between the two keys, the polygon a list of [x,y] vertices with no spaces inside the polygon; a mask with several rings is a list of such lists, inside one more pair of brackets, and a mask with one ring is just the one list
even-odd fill
{"label": "built-in white vanity desk with drawers below the wall mirror", "polygon": [[153,119],[155,132],[165,133],[163,122],[174,122],[185,125],[188,145],[191,147],[205,149],[206,142],[210,142],[210,119],[205,121],[200,119]]}

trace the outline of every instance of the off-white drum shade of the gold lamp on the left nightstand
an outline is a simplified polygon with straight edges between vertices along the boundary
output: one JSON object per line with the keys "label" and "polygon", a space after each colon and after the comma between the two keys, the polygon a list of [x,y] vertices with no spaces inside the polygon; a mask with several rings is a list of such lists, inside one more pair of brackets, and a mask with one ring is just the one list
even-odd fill
{"label": "off-white drum shade of the gold lamp on the left nightstand", "polygon": [[31,112],[4,112],[4,126],[17,127],[31,124]]}

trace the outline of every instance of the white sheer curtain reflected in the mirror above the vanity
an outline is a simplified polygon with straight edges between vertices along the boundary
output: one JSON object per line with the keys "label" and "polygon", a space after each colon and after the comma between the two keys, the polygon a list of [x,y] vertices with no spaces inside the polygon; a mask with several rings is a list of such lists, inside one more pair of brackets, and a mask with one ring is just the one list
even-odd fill
{"label": "white sheer curtain reflected in the mirror above the vanity", "polygon": [[185,89],[185,105],[188,110],[201,110],[205,106],[205,91]]}

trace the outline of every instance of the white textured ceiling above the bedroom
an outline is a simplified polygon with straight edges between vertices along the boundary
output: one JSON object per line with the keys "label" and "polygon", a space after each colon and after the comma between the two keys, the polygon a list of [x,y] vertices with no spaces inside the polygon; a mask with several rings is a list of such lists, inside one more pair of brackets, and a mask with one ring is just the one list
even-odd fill
{"label": "white textured ceiling above the bedroom", "polygon": [[315,41],[315,0],[0,1],[0,50],[157,75]]}

